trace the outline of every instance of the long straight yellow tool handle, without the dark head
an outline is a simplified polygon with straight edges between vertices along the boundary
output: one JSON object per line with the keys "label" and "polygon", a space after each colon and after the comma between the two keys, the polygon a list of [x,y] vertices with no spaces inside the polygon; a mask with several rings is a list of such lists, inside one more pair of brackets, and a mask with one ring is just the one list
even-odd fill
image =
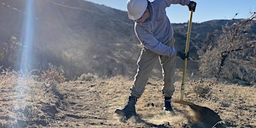
{"label": "long straight yellow tool handle, without the dark head", "polygon": [[[185,49],[186,56],[188,55],[188,49],[189,49],[189,39],[190,39],[190,33],[191,33],[192,16],[193,16],[193,10],[191,10],[189,25],[188,25],[188,35],[187,35],[187,42],[186,42],[186,49]],[[185,77],[186,77],[187,62],[188,62],[188,58],[185,58],[182,84],[181,84],[181,89],[180,89],[180,100],[183,100],[183,97],[184,97],[184,90],[185,90],[185,84],[184,83],[185,83]]]}

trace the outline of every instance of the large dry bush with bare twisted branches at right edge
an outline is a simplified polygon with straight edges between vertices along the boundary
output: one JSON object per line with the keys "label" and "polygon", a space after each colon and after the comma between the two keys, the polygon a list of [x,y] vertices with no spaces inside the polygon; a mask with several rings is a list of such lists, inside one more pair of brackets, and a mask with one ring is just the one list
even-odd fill
{"label": "large dry bush with bare twisted branches at right edge", "polygon": [[246,81],[246,84],[256,83],[255,75],[252,74],[256,70],[253,68],[256,66],[253,63],[256,35],[252,29],[255,16],[252,13],[248,19],[229,20],[221,31],[214,31],[207,36],[206,46],[200,51],[202,74],[233,82],[239,79]]}

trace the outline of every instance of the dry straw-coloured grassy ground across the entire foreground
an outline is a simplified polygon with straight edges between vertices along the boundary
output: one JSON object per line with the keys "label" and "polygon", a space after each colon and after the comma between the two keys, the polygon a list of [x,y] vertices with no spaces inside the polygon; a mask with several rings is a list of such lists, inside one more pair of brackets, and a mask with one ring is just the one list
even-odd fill
{"label": "dry straw-coloured grassy ground across the entire foreground", "polygon": [[[173,100],[179,99],[180,74],[177,70]],[[256,127],[255,86],[193,77],[187,79],[185,100],[212,109],[228,127]],[[189,123],[193,111],[188,106],[173,103],[176,115],[162,111],[161,80],[148,81],[145,93],[136,104],[139,116],[124,122],[114,111],[127,102],[131,79],[122,76],[100,79],[83,74],[79,81],[58,83],[41,78],[32,73],[1,72],[0,127],[202,127],[200,123]],[[61,74],[55,78],[61,79]],[[211,86],[207,89],[211,95],[201,97],[209,92],[193,90],[200,88],[198,85]]]}

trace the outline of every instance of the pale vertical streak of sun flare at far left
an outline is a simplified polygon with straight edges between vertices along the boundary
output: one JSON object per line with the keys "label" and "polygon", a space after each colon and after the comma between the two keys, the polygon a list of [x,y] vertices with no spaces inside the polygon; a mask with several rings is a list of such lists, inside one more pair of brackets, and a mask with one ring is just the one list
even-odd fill
{"label": "pale vertical streak of sun flare at far left", "polygon": [[[15,106],[17,108],[22,108],[24,111],[28,111],[27,102],[24,102],[24,97],[28,97],[30,93],[26,93],[26,87],[28,86],[29,79],[23,75],[23,73],[27,74],[26,70],[31,70],[31,58],[32,58],[32,44],[33,44],[33,0],[26,1],[26,15],[24,17],[22,33],[21,33],[21,41],[22,41],[22,49],[20,51],[20,63],[19,69],[22,74],[19,75],[19,79],[17,84],[15,85]],[[19,114],[16,114],[16,118],[19,118]]]}

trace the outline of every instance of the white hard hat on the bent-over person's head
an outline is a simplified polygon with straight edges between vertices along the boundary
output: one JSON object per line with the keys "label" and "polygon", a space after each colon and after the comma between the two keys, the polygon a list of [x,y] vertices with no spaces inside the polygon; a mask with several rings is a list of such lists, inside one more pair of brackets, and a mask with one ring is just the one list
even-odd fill
{"label": "white hard hat on the bent-over person's head", "polygon": [[128,17],[131,20],[140,19],[143,13],[147,9],[148,1],[147,0],[128,0],[127,1],[127,10]]}

